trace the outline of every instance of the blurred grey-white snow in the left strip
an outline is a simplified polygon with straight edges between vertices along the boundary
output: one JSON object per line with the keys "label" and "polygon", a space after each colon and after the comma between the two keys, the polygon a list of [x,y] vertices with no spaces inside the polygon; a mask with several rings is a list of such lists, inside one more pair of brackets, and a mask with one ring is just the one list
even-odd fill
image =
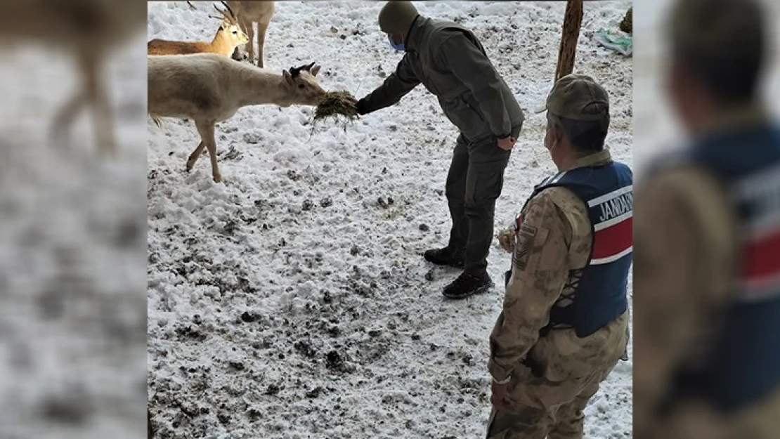
{"label": "blurred grey-white snow in the left strip", "polygon": [[69,53],[0,50],[0,437],[123,439],[144,423],[144,38],[101,70],[120,150],[108,160],[90,112],[69,149],[48,137],[80,82]]}

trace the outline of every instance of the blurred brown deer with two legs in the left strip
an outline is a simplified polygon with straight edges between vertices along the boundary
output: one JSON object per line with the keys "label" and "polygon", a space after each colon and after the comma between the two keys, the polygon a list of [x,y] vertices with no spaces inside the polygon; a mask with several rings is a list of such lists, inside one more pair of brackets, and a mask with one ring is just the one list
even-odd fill
{"label": "blurred brown deer with two legs in the left strip", "polygon": [[115,0],[24,0],[5,2],[0,14],[4,44],[42,42],[73,52],[83,84],[55,114],[52,140],[65,143],[76,116],[89,104],[98,147],[115,150],[115,128],[101,62],[108,51],[144,29],[145,2]]}

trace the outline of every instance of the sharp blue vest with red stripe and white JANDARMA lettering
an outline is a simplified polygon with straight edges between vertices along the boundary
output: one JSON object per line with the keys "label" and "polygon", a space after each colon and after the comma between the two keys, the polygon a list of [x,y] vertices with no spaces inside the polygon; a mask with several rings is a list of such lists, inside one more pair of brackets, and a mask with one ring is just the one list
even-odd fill
{"label": "sharp blue vest with red stripe and white JANDARMA lettering", "polygon": [[[574,279],[579,278],[573,294],[562,296],[552,306],[550,324],[542,335],[556,327],[573,327],[578,337],[587,337],[626,312],[633,250],[632,185],[631,169],[610,161],[559,172],[534,187],[529,201],[552,186],[575,193],[588,207],[592,236],[586,266],[572,273]],[[518,228],[520,221],[522,215]]]}

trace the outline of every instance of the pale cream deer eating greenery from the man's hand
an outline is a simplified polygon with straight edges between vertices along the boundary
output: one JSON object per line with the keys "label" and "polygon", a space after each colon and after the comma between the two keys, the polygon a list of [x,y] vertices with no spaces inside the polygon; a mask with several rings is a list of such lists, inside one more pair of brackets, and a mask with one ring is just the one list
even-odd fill
{"label": "pale cream deer eating greenery from the man's hand", "polygon": [[232,118],[247,105],[317,105],[325,90],[317,82],[320,66],[291,67],[282,73],[259,69],[213,54],[148,57],[147,102],[151,119],[192,119],[200,143],[187,159],[189,172],[204,148],[211,157],[211,175],[222,182],[217,165],[215,124]]}

